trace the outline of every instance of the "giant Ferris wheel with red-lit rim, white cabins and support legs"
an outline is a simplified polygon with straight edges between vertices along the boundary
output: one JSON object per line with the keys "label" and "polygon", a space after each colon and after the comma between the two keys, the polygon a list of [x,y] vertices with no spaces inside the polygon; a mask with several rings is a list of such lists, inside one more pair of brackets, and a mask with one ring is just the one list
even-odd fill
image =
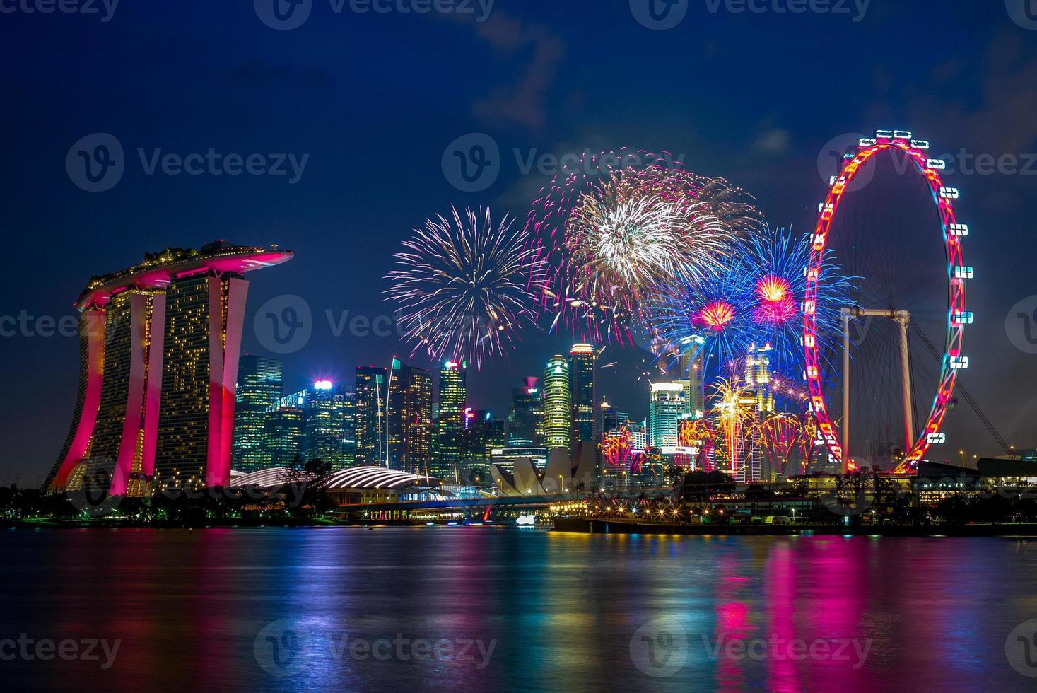
{"label": "giant Ferris wheel with red-lit rim, white cabins and support legs", "polygon": [[[903,454],[893,471],[905,473],[912,467],[924,459],[930,446],[946,442],[946,434],[941,431],[947,413],[953,408],[955,383],[960,370],[969,367],[969,357],[962,352],[962,337],[964,327],[973,323],[973,313],[965,310],[965,283],[973,278],[973,269],[966,266],[962,259],[961,244],[962,239],[969,235],[969,226],[958,223],[954,214],[954,200],[958,198],[956,188],[947,187],[944,184],[941,171],[946,170],[947,164],[944,160],[930,157],[927,151],[929,143],[925,140],[916,139],[910,132],[902,130],[878,130],[874,137],[862,138],[857,146],[857,151],[846,154],[843,158],[841,169],[832,176],[831,188],[823,202],[818,205],[817,225],[814,230],[811,261],[807,270],[807,285],[803,305],[804,332],[803,345],[805,353],[805,377],[810,393],[810,408],[817,421],[819,438],[823,441],[831,456],[838,461],[843,468],[843,472],[849,472],[853,468],[850,450],[850,432],[854,425],[853,406],[851,400],[851,369],[854,368],[854,361],[851,358],[850,323],[861,318],[886,322],[890,325],[892,333],[896,335],[890,341],[890,346],[896,353],[891,355],[891,360],[896,364],[899,371],[899,392],[900,409],[903,420],[898,422],[898,427],[902,432]],[[869,164],[874,164],[872,160],[876,155],[887,153],[899,158],[901,164],[905,164],[902,172],[909,175],[920,176],[929,193],[931,193],[932,203],[935,205],[935,213],[940,220],[940,227],[943,232],[943,246],[945,248],[946,259],[946,303],[940,302],[946,307],[946,323],[941,327],[944,334],[943,355],[940,359],[935,371],[935,393],[932,405],[929,408],[928,416],[924,421],[914,413],[914,395],[916,384],[913,383],[912,361],[909,356],[908,328],[916,320],[908,306],[896,305],[891,299],[882,304],[853,305],[842,310],[842,345],[840,352],[841,372],[836,375],[836,380],[841,380],[842,401],[841,401],[841,422],[837,425],[830,412],[829,403],[825,398],[825,384],[831,383],[834,373],[824,372],[831,369],[832,358],[822,355],[821,342],[824,335],[819,334],[818,324],[815,317],[817,311],[818,289],[823,281],[822,270],[825,261],[825,250],[831,245],[834,226],[841,203],[850,196],[854,188],[854,181],[860,176],[862,170]],[[874,170],[869,170],[873,174]],[[860,183],[860,182],[858,182]],[[903,184],[899,184],[903,185]],[[869,229],[868,232],[870,232]],[[889,246],[890,244],[885,244]],[[909,267],[901,266],[895,272],[909,273]],[[933,289],[930,285],[929,289]],[[922,338],[930,346],[934,354],[938,355],[938,349],[928,340],[925,335]],[[896,387],[896,386],[894,386]],[[892,411],[892,408],[890,408]]]}

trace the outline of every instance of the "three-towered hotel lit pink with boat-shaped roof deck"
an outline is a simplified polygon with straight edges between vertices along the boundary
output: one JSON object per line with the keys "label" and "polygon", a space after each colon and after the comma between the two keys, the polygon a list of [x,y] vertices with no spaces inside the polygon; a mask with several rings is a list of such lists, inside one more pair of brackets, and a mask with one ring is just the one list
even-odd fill
{"label": "three-towered hotel lit pink with boat-shaped roof deck", "polygon": [[76,302],[76,411],[44,488],[77,489],[101,470],[112,495],[227,486],[244,274],[291,257],[216,242],[94,277]]}

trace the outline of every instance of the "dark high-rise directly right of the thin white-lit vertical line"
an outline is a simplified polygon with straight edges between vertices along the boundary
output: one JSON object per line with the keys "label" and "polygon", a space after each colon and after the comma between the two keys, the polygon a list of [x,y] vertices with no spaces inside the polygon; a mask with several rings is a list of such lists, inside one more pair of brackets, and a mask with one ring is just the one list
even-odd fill
{"label": "dark high-rise directly right of the thin white-lit vertical line", "polygon": [[388,466],[426,474],[431,463],[431,373],[393,359],[389,378]]}

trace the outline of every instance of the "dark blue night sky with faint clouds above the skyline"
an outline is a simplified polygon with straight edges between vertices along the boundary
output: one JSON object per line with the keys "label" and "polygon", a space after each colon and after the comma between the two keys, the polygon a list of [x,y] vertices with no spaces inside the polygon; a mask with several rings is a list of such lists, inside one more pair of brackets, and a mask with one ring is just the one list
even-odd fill
{"label": "dark blue night sky with faint clouds above the skyline", "polygon": [[[1017,317],[1037,309],[1037,158],[1029,154],[1037,151],[1037,21],[1027,28],[1022,0],[1008,2],[1018,22],[1000,0],[873,0],[863,18],[853,2],[847,13],[779,13],[769,0],[758,3],[767,11],[738,13],[728,8],[740,3],[713,12],[712,0],[691,0],[668,30],[639,23],[647,17],[639,0],[497,0],[483,22],[478,4],[474,15],[395,5],[361,13],[313,0],[291,30],[264,24],[259,15],[276,22],[257,4],[258,12],[251,0],[123,0],[109,16],[100,2],[91,7],[100,13],[39,13],[26,11],[35,0],[0,0],[0,314],[73,315],[91,275],[145,251],[215,239],[276,243],[296,258],[249,275],[245,351],[270,353],[253,315],[296,295],[312,311],[313,331],[283,357],[286,390],[316,377],[352,385],[358,363],[386,365],[394,353],[432,364],[408,358],[395,338],[336,337],[326,311],[335,321],[345,310],[389,314],[381,293],[392,254],[450,204],[525,219],[550,179],[536,166],[523,172],[531,156],[668,150],[696,172],[745,187],[773,223],[805,230],[825,192],[818,158],[828,162],[824,178],[835,172],[828,143],[843,136],[841,148],[853,139],[847,133],[906,128],[935,153],[963,148],[1029,166],[962,167],[947,177],[962,191],[958,214],[973,228],[965,250],[976,269],[976,325],[965,336],[973,365],[962,382],[1010,442],[1037,444],[1037,326]],[[104,192],[83,190],[66,168],[74,143],[95,133],[124,150],[122,177]],[[443,158],[472,133],[497,143],[500,173],[485,190],[465,192],[445,175]],[[138,148],[145,160],[159,148],[307,159],[295,182],[287,164],[284,175],[173,175],[161,166],[147,174]],[[938,268],[941,253],[937,238],[925,259]],[[922,261],[896,257],[905,272]],[[77,339],[3,327],[0,482],[37,483],[72,417]],[[508,358],[470,373],[472,404],[505,415],[508,390],[571,341],[527,334]],[[604,361],[620,363],[599,387],[638,416],[647,408],[647,386],[637,381],[643,357],[611,346]],[[947,433],[944,455],[998,452],[964,407],[949,416]]]}

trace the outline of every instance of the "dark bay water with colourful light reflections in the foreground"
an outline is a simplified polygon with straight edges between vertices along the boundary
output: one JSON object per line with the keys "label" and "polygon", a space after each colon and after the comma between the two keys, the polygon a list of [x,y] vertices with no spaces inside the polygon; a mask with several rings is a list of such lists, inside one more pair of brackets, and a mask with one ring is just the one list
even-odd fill
{"label": "dark bay water with colourful light reflections in the foreground", "polygon": [[[0,533],[0,639],[119,644],[108,668],[101,645],[90,661],[41,661],[29,645],[32,659],[0,662],[0,683],[1034,690],[1037,678],[1019,671],[1037,665],[1016,653],[1013,668],[1006,641],[1037,618],[1035,546],[465,528],[9,530]],[[789,649],[795,639],[802,648]],[[0,643],[0,656],[11,646]]]}

